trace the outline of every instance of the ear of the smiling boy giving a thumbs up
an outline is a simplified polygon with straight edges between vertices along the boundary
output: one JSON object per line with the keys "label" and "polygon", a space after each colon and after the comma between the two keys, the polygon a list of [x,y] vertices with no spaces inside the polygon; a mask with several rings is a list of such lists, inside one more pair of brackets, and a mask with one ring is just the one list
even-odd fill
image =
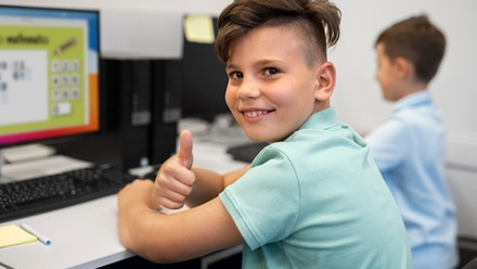
{"label": "ear of the smiling boy giving a thumbs up", "polygon": [[331,62],[324,62],[317,67],[317,89],[314,98],[318,101],[330,100],[336,85],[336,67]]}

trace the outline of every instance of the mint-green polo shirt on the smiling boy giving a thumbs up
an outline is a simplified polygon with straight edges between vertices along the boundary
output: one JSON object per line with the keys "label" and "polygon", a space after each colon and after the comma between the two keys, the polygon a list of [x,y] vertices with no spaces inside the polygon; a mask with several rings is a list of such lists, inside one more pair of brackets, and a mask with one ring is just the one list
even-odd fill
{"label": "mint-green polo shirt on the smiling boy giving a thumbs up", "polygon": [[219,196],[246,242],[243,268],[411,268],[397,204],[334,108],[263,149]]}

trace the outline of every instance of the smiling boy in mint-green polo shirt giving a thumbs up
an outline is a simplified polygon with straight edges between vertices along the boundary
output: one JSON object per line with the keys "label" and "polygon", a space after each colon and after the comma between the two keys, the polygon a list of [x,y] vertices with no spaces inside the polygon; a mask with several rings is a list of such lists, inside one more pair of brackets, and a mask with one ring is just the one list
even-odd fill
{"label": "smiling boy in mint-green polo shirt giving a thumbs up", "polygon": [[[243,268],[410,268],[399,209],[363,139],[330,97],[340,12],[326,0],[236,0],[218,20],[225,102],[245,133],[269,142],[218,175],[192,168],[192,134],[160,167],[118,194],[119,236],[157,262],[244,244]],[[157,205],[189,210],[164,215]]]}

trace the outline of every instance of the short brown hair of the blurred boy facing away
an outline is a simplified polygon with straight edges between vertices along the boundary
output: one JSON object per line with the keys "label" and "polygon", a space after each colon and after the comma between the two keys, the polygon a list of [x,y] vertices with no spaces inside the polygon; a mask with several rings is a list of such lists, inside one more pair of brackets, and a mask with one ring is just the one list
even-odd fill
{"label": "short brown hair of the blurred boy facing away", "polygon": [[426,15],[412,16],[385,29],[375,46],[384,44],[390,59],[404,57],[414,64],[418,79],[429,82],[446,51],[446,37]]}

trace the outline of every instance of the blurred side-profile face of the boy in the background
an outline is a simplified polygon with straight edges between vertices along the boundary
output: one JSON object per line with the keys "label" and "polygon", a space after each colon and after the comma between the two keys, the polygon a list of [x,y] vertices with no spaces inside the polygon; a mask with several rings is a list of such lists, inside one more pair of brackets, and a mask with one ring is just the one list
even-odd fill
{"label": "blurred side-profile face of the boy in the background", "polygon": [[398,66],[386,55],[383,43],[376,46],[376,79],[379,82],[383,98],[388,101],[397,101],[400,99]]}

